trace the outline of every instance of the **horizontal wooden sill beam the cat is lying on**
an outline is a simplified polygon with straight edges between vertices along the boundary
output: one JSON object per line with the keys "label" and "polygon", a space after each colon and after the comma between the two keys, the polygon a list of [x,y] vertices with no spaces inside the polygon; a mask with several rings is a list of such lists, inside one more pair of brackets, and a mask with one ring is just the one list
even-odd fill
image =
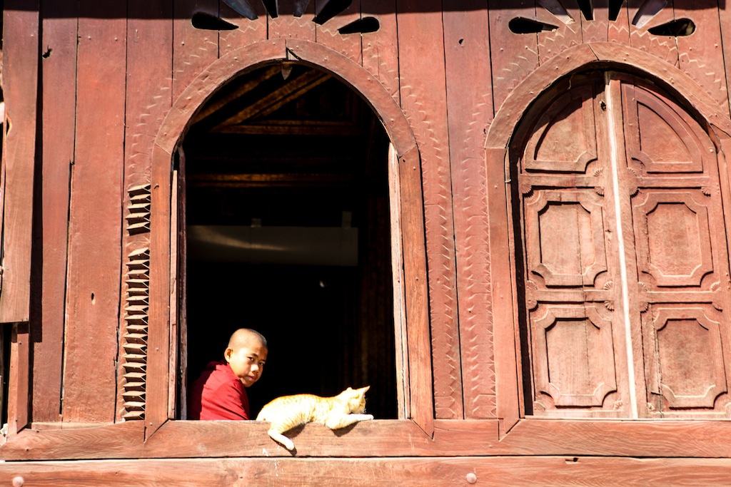
{"label": "horizontal wooden sill beam the cat is lying on", "polygon": [[[167,421],[143,440],[142,421],[50,429],[33,426],[0,447],[12,460],[292,456],[259,421]],[[333,432],[287,433],[297,457],[624,456],[731,459],[729,421],[520,420],[499,439],[497,420],[435,420],[429,438],[409,420],[375,420]]]}

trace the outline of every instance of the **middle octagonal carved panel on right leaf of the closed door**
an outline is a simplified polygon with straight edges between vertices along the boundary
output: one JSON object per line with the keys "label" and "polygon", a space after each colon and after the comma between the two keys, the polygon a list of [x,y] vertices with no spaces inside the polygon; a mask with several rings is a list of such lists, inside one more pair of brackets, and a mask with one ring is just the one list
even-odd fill
{"label": "middle octagonal carved panel on right leaf of the closed door", "polygon": [[633,203],[640,280],[651,288],[699,287],[714,271],[708,226],[713,200],[701,190],[648,190]]}

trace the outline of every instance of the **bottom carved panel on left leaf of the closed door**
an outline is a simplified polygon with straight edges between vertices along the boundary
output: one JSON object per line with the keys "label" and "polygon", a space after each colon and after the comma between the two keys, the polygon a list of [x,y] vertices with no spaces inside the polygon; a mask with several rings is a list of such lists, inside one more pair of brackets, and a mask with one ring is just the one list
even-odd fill
{"label": "bottom carved panel on left leaf of the closed door", "polygon": [[541,304],[531,312],[538,408],[601,408],[617,390],[612,322],[606,311],[601,305]]}

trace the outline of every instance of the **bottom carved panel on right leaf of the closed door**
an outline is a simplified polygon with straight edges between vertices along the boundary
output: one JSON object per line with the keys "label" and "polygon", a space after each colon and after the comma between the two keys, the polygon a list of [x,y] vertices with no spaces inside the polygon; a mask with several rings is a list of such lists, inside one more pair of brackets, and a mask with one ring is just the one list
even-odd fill
{"label": "bottom carved panel on right leaf of the closed door", "polygon": [[[659,304],[644,315],[643,340],[651,411],[711,410],[727,392],[721,320],[711,305]],[[721,413],[728,401],[719,401]]]}

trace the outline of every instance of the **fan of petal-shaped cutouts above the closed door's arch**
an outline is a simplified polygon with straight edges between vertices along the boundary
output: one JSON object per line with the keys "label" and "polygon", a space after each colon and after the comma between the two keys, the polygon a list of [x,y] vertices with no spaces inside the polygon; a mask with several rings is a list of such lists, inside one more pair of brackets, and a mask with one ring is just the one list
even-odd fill
{"label": "fan of petal-shaped cutouts above the closed door's arch", "polygon": [[[580,10],[580,15],[586,21],[594,20],[595,8],[591,0],[572,0],[570,3],[574,3]],[[540,7],[543,7],[547,12],[556,18],[556,24],[542,22],[539,20],[516,17],[512,18],[509,23],[510,31],[515,34],[537,34],[545,31],[556,31],[560,28],[561,23],[566,25],[570,23],[580,22],[580,18],[576,18],[577,15],[572,15],[571,9],[565,7],[565,4],[569,3],[567,0],[537,0]],[[627,8],[624,0],[609,0],[607,7],[606,16],[602,18],[609,18],[611,22],[615,22],[619,17],[621,9]],[[643,3],[635,9],[632,9],[634,15],[630,19],[632,26],[636,28],[643,28],[647,25],[659,12],[667,7],[668,0],[645,0]],[[598,8],[598,7],[597,7]],[[689,36],[695,31],[695,23],[687,18],[678,18],[662,25],[648,28],[650,34],[656,36],[671,36],[671,37],[682,37]]]}

